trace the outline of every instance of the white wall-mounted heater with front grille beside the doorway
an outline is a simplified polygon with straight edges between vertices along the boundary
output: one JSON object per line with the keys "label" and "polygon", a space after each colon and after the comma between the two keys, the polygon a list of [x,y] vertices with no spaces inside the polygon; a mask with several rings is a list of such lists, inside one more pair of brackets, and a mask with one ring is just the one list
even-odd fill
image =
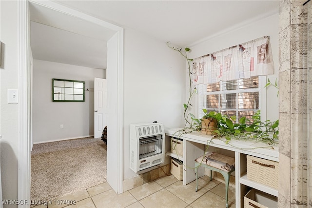
{"label": "white wall-mounted heater with front grille beside the doorway", "polygon": [[134,172],[165,161],[165,131],[162,123],[130,125],[130,168]]}

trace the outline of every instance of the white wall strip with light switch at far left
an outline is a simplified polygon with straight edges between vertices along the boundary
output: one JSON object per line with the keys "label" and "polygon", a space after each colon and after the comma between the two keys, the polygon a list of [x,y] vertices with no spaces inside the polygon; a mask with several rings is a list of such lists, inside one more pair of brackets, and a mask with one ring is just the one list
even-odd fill
{"label": "white wall strip with light switch at far left", "polygon": [[[4,68],[0,69],[0,149],[3,199],[18,199],[20,104],[7,103],[7,89],[19,89],[17,1],[0,1],[0,37]],[[14,26],[12,26],[14,25]],[[6,206],[3,206],[6,207]],[[11,206],[17,207],[17,206]]]}

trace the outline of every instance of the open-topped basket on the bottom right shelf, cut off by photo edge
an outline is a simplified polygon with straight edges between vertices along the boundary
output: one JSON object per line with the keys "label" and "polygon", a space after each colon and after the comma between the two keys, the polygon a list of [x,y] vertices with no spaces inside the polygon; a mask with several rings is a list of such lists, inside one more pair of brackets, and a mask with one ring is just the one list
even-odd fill
{"label": "open-topped basket on the bottom right shelf, cut off by photo edge", "polygon": [[251,189],[244,196],[244,208],[277,208],[277,197]]}

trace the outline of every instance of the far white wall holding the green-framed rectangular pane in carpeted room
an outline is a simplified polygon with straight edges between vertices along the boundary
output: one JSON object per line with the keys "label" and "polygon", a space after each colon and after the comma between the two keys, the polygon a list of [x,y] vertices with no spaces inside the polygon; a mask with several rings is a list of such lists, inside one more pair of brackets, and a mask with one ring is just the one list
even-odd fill
{"label": "far white wall holding the green-framed rectangular pane in carpeted room", "polygon": [[[52,79],[85,82],[94,88],[94,77],[105,78],[104,70],[57,62],[34,60],[34,143],[94,135],[94,92],[85,91],[85,102],[52,102]],[[60,125],[64,125],[60,129]]]}

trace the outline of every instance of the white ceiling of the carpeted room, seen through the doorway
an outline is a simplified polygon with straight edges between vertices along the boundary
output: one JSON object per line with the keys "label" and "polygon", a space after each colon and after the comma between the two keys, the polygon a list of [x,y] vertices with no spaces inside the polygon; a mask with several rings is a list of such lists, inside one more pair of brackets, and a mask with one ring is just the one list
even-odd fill
{"label": "white ceiling of the carpeted room, seen through the doorway", "polygon": [[30,3],[30,42],[34,59],[106,68],[106,41],[115,32]]}

